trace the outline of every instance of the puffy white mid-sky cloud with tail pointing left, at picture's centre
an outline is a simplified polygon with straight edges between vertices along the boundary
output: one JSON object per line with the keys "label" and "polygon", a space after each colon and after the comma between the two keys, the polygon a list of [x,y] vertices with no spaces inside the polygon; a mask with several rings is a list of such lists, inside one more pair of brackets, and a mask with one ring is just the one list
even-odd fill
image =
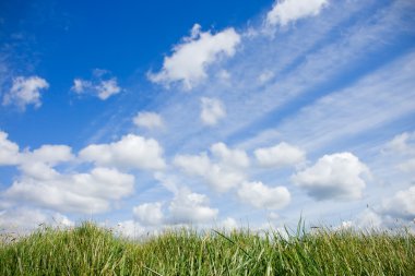
{"label": "puffy white mid-sky cloud with tail pointing left, at picture's centre", "polygon": [[178,155],[174,165],[190,176],[201,177],[217,192],[226,192],[245,180],[249,158],[244,151],[230,149],[223,143],[211,146],[214,160],[201,153],[199,155]]}

